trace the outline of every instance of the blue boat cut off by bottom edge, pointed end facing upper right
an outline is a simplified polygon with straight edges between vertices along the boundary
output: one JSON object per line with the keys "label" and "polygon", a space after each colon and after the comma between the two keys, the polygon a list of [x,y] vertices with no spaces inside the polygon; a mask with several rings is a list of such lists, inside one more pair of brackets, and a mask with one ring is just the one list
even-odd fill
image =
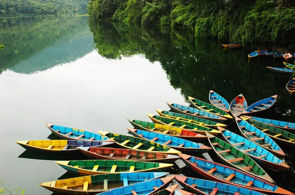
{"label": "blue boat cut off by bottom edge, pointed end facing upper right", "polygon": [[164,177],[123,186],[97,195],[151,195],[168,187],[175,176]]}

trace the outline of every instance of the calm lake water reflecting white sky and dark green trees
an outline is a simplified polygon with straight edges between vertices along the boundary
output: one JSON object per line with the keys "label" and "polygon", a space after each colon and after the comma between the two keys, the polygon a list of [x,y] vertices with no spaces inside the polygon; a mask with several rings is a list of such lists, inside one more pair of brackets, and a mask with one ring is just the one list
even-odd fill
{"label": "calm lake water reflecting white sky and dark green trees", "polygon": [[[76,176],[54,163],[73,157],[25,152],[15,143],[55,139],[45,123],[126,134],[127,118],[148,121],[146,113],[167,110],[166,101],[187,104],[187,96],[208,101],[209,90],[228,101],[242,93],[249,104],[278,94],[260,116],[295,122],[295,101],[283,93],[289,76],[265,68],[283,67],[282,60],[248,61],[249,50],[223,50],[186,30],[96,26],[87,17],[1,19],[0,43],[0,176],[28,195],[51,195],[38,183]],[[291,169],[265,170],[294,191],[294,152],[283,149]]]}

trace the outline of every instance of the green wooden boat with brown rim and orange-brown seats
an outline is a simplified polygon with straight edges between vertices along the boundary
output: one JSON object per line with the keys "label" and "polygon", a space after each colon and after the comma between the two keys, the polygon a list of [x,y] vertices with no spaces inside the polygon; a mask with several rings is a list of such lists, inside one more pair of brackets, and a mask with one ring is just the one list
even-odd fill
{"label": "green wooden boat with brown rim and orange-brown seats", "polygon": [[225,164],[273,183],[274,181],[254,160],[234,146],[207,133],[207,138],[216,156]]}

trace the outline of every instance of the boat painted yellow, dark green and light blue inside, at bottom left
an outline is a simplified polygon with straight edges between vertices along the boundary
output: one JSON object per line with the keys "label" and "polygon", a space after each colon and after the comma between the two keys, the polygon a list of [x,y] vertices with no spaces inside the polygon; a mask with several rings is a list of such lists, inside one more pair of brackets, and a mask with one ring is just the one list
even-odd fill
{"label": "boat painted yellow, dark green and light blue inside, at bottom left", "polygon": [[59,194],[96,195],[118,187],[166,177],[168,174],[169,172],[109,173],[49,181],[39,183],[39,186]]}

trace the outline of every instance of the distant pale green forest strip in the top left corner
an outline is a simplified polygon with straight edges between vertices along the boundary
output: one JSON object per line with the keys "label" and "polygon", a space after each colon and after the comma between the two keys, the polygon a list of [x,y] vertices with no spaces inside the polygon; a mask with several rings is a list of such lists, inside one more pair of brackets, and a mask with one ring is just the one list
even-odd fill
{"label": "distant pale green forest strip in the top left corner", "polygon": [[0,18],[86,13],[89,0],[0,0]]}

